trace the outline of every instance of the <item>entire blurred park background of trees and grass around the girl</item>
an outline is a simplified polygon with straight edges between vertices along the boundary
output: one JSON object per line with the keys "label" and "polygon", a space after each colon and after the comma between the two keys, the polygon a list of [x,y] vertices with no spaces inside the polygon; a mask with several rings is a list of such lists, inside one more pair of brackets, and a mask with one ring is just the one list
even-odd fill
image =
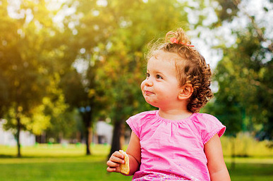
{"label": "entire blurred park background of trees and grass around the girl", "polygon": [[272,0],[0,0],[0,177],[130,180],[105,161],[154,109],[147,44],[183,27],[212,67],[201,112],[226,125],[231,180],[273,180],[272,19]]}

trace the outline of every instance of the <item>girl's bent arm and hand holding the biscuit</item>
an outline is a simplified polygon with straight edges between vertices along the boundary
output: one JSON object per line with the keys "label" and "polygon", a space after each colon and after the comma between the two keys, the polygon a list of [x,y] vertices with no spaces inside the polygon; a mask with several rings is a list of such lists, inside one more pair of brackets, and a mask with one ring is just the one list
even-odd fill
{"label": "girl's bent arm and hand holding the biscuit", "polygon": [[[128,175],[133,175],[139,170],[141,160],[140,139],[138,139],[134,132],[131,134],[126,154],[128,154],[130,166],[130,173]],[[124,156],[119,151],[115,151],[109,158],[109,161],[107,161],[107,171],[120,173],[119,163],[124,163]]]}

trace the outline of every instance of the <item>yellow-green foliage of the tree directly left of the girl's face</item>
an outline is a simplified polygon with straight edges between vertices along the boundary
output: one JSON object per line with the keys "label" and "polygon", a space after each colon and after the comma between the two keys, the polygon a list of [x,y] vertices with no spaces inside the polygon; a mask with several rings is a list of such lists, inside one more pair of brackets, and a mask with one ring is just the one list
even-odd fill
{"label": "yellow-green foliage of the tree directly left of the girl's face", "polygon": [[98,82],[95,96],[105,102],[103,112],[108,111],[114,122],[150,108],[140,92],[145,71],[143,52],[153,38],[164,35],[178,22],[187,21],[181,8],[183,4],[174,1],[107,1],[107,6],[93,1],[78,4],[78,14],[84,14],[75,27],[77,39],[82,40],[79,47],[85,49],[82,56],[89,65],[97,65],[97,69],[90,66],[87,70],[95,74],[88,79]]}

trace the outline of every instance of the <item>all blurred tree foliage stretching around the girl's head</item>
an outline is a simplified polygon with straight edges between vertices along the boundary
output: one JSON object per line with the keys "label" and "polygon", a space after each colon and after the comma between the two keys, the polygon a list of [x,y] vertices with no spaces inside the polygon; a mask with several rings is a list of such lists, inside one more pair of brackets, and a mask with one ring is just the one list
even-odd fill
{"label": "all blurred tree foliage stretching around the girl's head", "polygon": [[[248,21],[231,27],[234,44],[215,47],[223,52],[215,70],[219,92],[205,109],[226,125],[227,135],[262,127],[272,137],[272,31],[245,11],[246,1],[105,2],[1,1],[0,118],[8,121],[6,129],[68,138],[79,119],[84,131],[99,117],[121,127],[152,109],[140,91],[147,44],[179,26],[204,27],[214,8],[212,32],[242,14]],[[262,13],[269,15],[272,1],[266,2]]]}

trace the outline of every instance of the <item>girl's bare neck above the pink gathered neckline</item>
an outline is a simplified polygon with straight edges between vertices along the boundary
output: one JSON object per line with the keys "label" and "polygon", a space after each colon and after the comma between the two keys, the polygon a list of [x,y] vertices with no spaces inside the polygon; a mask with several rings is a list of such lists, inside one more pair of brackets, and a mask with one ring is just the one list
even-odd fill
{"label": "girl's bare neck above the pink gathered neckline", "polygon": [[183,120],[188,118],[193,113],[187,109],[171,109],[171,110],[162,110],[159,108],[159,116],[168,120]]}

